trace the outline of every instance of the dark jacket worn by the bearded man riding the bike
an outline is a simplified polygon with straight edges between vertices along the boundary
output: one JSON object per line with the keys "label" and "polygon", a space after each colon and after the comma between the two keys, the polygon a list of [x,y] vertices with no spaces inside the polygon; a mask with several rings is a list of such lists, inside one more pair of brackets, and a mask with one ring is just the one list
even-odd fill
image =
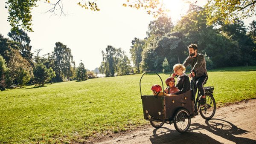
{"label": "dark jacket worn by the bearded man riding the bike", "polygon": [[186,58],[185,62],[183,63],[183,66],[191,66],[192,71],[195,72],[195,77],[199,78],[201,76],[208,76],[207,69],[206,69],[206,61],[203,54],[199,54],[193,58],[189,56]]}

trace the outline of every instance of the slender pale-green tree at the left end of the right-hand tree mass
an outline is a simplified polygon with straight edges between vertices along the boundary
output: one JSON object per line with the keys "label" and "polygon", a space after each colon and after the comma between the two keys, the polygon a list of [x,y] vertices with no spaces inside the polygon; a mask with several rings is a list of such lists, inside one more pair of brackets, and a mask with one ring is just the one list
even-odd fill
{"label": "slender pale-green tree at the left end of the right-hand tree mass", "polygon": [[140,62],[142,60],[141,52],[143,51],[143,46],[145,44],[144,40],[140,40],[138,38],[134,38],[132,40],[133,46],[131,46],[130,53],[131,53],[131,60],[134,63],[135,73],[140,73]]}

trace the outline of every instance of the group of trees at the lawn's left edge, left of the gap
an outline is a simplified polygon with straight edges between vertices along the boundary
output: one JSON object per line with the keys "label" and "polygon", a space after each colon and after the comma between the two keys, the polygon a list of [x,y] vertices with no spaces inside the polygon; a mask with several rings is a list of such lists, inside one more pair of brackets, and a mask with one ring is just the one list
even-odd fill
{"label": "group of trees at the lawn's left edge, left of the gap", "polygon": [[31,52],[30,38],[22,29],[11,30],[9,38],[0,35],[0,89],[18,85],[96,78],[81,62],[76,68],[71,49],[61,42],[55,43],[53,52],[40,56],[42,49]]}

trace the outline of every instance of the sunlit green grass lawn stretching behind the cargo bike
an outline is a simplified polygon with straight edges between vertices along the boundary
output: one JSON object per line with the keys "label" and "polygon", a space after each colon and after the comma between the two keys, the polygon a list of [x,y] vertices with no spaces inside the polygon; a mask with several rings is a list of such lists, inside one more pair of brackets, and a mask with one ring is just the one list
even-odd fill
{"label": "sunlit green grass lawn stretching behind the cargo bike", "polygon": [[[209,72],[218,106],[256,98],[256,66]],[[136,129],[143,119],[142,74],[69,81],[0,92],[0,143],[83,142],[112,132]],[[169,76],[160,74],[163,81]],[[157,75],[142,79],[142,95],[161,84]],[[165,87],[165,85],[164,85]]]}

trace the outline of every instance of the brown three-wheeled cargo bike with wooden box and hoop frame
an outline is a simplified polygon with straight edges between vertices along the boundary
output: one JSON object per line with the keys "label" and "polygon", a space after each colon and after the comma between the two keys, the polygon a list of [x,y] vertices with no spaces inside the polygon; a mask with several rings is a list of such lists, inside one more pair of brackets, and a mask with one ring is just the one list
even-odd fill
{"label": "brown three-wheeled cargo bike with wooden box and hoop frame", "polygon": [[[215,99],[213,97],[213,86],[204,87],[206,104],[202,107],[200,105],[201,94],[198,92],[195,99],[195,88],[193,88],[183,94],[175,96],[154,96],[154,95],[142,95],[141,92],[141,80],[146,73],[157,72],[147,71],[140,78],[140,96],[143,104],[144,119],[150,121],[150,124],[155,128],[160,128],[163,124],[174,124],[175,129],[180,132],[186,132],[189,130],[191,124],[191,118],[195,118],[196,115],[200,115],[206,119],[211,119],[216,110]],[[162,90],[164,92],[163,81],[160,75],[158,75],[162,82]]]}

